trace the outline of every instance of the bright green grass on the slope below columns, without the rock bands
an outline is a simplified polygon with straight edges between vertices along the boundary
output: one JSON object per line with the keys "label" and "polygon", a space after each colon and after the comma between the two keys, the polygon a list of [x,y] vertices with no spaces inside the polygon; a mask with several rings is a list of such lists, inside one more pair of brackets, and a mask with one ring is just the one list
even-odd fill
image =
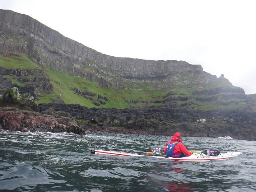
{"label": "bright green grass on the slope below columns, without the rock bands", "polygon": [[[106,108],[130,108],[132,107],[140,107],[144,106],[145,103],[127,103],[128,100],[142,100],[142,101],[154,101],[154,100],[163,100],[163,96],[168,92],[176,92],[178,95],[171,95],[170,97],[191,97],[192,92],[194,90],[205,90],[211,89],[219,86],[229,86],[221,84],[220,82],[208,83],[205,84],[204,88],[198,88],[197,86],[192,86],[190,88],[174,88],[168,91],[159,91],[159,90],[150,90],[148,86],[150,83],[129,83],[130,87],[134,87],[138,90],[127,90],[127,89],[113,89],[99,86],[96,83],[85,80],[83,78],[77,78],[70,76],[66,73],[62,73],[56,70],[52,70],[45,66],[39,66],[36,63],[29,60],[27,57],[23,56],[10,56],[3,57],[0,56],[0,66],[8,68],[8,69],[43,69],[45,74],[50,78],[51,84],[54,88],[54,93],[45,94],[42,98],[36,101],[39,103],[50,103],[52,98],[56,98],[61,95],[61,98],[64,100],[66,104],[69,103],[78,103],[82,106],[87,107],[97,107],[93,104],[92,100],[83,97],[82,95],[76,94],[74,91],[70,90],[70,88],[77,88],[82,91],[91,92],[94,94],[101,95],[103,97],[109,98],[108,101],[105,101],[106,104],[102,104],[98,107],[106,107]],[[20,83],[15,76],[5,75],[8,78],[11,78],[12,83],[16,83],[19,86],[24,86],[24,83]],[[127,83],[128,84],[128,83]],[[232,89],[236,89],[236,87],[232,86]],[[238,88],[237,88],[238,89]],[[239,88],[241,89],[241,88]],[[37,90],[40,91],[40,90]],[[185,94],[185,95],[184,95]],[[94,97],[93,99],[98,99]],[[210,109],[234,109],[234,108],[243,108],[247,104],[244,103],[243,100],[230,99],[229,101],[234,100],[236,104],[227,104],[227,105],[218,105],[216,101],[213,102],[200,102],[195,100],[195,98],[191,97],[187,101],[177,102],[178,104],[184,104],[187,102],[192,103],[191,106],[195,106],[199,109],[210,110]],[[161,103],[149,103],[147,106],[163,106]]]}

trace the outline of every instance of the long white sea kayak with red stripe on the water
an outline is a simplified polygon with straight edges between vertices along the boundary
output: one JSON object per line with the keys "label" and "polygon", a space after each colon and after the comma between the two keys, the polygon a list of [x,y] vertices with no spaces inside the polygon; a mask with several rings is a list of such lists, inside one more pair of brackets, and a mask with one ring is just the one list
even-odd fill
{"label": "long white sea kayak with red stripe on the water", "polygon": [[104,151],[104,150],[91,150],[91,153],[97,154],[97,155],[104,154],[104,155],[118,155],[118,156],[152,157],[152,158],[168,159],[168,160],[174,160],[174,161],[197,161],[197,162],[211,161],[211,160],[226,160],[241,154],[241,152],[227,152],[227,153],[220,153],[218,156],[210,156],[210,155],[205,155],[204,153],[193,153],[190,156],[185,156],[182,158],[172,158],[172,157],[167,157],[166,155],[161,155],[161,156],[140,155],[136,153]]}

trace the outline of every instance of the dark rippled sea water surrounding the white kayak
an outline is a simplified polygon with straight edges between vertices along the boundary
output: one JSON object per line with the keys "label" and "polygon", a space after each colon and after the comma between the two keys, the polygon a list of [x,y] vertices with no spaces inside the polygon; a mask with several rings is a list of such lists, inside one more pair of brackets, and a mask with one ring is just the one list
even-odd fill
{"label": "dark rippled sea water surrounding the white kayak", "polygon": [[256,191],[256,141],[182,137],[188,150],[241,151],[208,162],[94,155],[91,149],[135,151],[168,136],[0,130],[0,191]]}

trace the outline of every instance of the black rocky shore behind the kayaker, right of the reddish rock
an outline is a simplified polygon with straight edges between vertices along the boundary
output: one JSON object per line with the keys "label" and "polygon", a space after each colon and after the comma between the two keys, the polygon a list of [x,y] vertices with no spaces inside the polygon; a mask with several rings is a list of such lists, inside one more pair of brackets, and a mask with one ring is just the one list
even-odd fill
{"label": "black rocky shore behind the kayaker, right of the reddish rock", "polygon": [[38,106],[39,112],[49,108],[84,120],[84,129],[90,131],[155,135],[172,135],[178,131],[183,136],[228,135],[234,139],[256,140],[256,112],[250,109],[188,112],[174,108],[96,109],[77,104]]}

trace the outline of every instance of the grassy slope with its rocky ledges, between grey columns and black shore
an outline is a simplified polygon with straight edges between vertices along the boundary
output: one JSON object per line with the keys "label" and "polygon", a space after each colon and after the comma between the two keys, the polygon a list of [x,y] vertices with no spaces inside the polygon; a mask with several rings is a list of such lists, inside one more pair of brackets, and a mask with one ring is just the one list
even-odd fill
{"label": "grassy slope with its rocky ledges, between grey columns and black shore", "polygon": [[[177,87],[171,90],[151,90],[146,83],[141,83],[140,89],[138,90],[114,89],[102,87],[92,81],[70,76],[69,74],[38,65],[24,56],[9,55],[8,61],[5,58],[3,55],[0,55],[0,67],[5,69],[8,66],[8,62],[10,62],[9,66],[11,66],[11,70],[15,70],[15,73],[13,73],[14,75],[4,75],[4,77],[10,78],[12,83],[18,84],[19,86],[30,85],[29,82],[23,82],[24,78],[29,78],[31,80],[39,80],[39,84],[43,84],[45,81],[51,84],[53,93],[47,90],[34,89],[34,93],[36,93],[35,102],[37,104],[51,103],[59,99],[63,100],[66,104],[78,103],[89,108],[104,107],[122,109],[154,106],[197,111],[241,109],[251,106],[256,109],[256,97],[245,95],[243,89],[233,86],[227,80],[200,83],[191,85],[190,87]],[[22,65],[20,65],[19,60],[23,61]],[[26,72],[25,70],[34,70],[34,72]],[[42,78],[43,76],[45,78]],[[83,95],[81,92],[85,92],[86,94]]]}

